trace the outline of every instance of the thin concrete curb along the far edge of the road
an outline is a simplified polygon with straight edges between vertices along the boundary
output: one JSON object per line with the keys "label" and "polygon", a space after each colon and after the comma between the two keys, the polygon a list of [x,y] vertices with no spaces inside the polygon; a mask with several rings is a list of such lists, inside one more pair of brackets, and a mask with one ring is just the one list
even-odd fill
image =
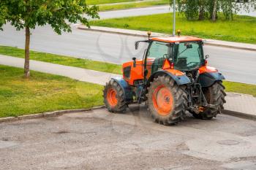
{"label": "thin concrete curb along the far edge of the road", "polygon": [[[80,30],[85,30],[85,31],[96,31],[96,32],[102,32],[102,33],[108,33],[108,34],[119,34],[119,35],[125,35],[125,36],[140,36],[140,37],[148,37],[146,34],[132,34],[128,32],[118,32],[118,31],[110,31],[110,30],[102,30],[102,29],[97,29],[97,28],[85,28],[83,26],[76,26],[76,28]],[[158,36],[166,36],[166,34],[157,34]],[[154,35],[152,35],[154,36]],[[227,48],[233,48],[233,49],[238,49],[238,50],[251,50],[251,51],[256,51],[256,48],[251,48],[251,47],[238,47],[238,46],[232,46],[232,45],[223,45],[223,44],[217,44],[213,42],[205,42],[205,45],[211,45],[215,47],[227,47]]]}

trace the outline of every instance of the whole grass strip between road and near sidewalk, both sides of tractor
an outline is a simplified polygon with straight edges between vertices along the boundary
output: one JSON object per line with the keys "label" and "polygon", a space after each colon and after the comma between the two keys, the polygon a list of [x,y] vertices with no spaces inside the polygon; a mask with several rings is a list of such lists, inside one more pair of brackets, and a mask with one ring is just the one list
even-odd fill
{"label": "whole grass strip between road and near sidewalk, both sides of tractor", "polygon": [[[10,55],[13,57],[23,58],[24,51],[15,47],[1,47],[0,54]],[[76,66],[84,69],[93,69],[101,72],[110,72],[115,74],[121,74],[121,65],[104,63],[100,61],[91,61],[77,59],[61,55],[53,55],[48,53],[31,52],[31,59],[35,61],[45,61],[49,63],[58,63],[65,66]],[[238,82],[224,82],[227,92],[245,93],[256,97],[256,85],[247,85]],[[1,85],[0,85],[1,95]],[[1,111],[1,109],[0,109]]]}

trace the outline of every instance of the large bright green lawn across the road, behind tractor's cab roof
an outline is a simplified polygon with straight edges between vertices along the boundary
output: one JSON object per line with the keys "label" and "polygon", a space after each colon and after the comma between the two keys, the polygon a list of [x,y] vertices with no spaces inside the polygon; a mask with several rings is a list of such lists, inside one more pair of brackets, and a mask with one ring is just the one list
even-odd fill
{"label": "large bright green lawn across the road, behind tractor's cab roof", "polygon": [[[113,18],[108,20],[91,21],[94,26],[154,31],[172,33],[173,14],[147,15],[129,18]],[[199,36],[207,39],[220,39],[232,42],[246,42],[256,44],[256,18],[236,15],[233,21],[224,20],[219,15],[216,23],[210,20],[188,21],[183,15],[177,14],[176,28],[181,34]]]}

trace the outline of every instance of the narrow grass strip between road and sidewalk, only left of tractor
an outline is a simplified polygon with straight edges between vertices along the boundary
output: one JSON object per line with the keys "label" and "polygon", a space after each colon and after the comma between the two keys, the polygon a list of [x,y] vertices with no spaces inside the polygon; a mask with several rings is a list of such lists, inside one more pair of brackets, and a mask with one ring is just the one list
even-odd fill
{"label": "narrow grass strip between road and sidewalk, only left of tractor", "polygon": [[[24,58],[24,50],[16,47],[0,46],[0,54]],[[75,66],[83,69],[92,69],[100,72],[121,74],[121,66],[113,63],[91,61],[88,59],[72,58],[63,55],[55,55],[35,51],[31,51],[30,59],[35,61],[44,61],[48,63],[58,63],[64,66]]]}

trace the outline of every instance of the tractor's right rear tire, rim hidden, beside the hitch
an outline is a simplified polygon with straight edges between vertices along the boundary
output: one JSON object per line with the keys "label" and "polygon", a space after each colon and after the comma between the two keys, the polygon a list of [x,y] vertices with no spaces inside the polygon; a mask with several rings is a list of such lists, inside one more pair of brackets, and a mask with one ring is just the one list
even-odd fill
{"label": "tractor's right rear tire, rim hidden, beside the hitch", "polygon": [[221,81],[218,81],[211,85],[211,87],[203,88],[203,93],[208,104],[217,105],[217,108],[208,108],[199,114],[192,112],[192,115],[197,119],[211,120],[213,117],[221,114],[222,109],[224,109],[223,104],[226,103],[225,96],[227,96],[225,86],[222,85]]}

